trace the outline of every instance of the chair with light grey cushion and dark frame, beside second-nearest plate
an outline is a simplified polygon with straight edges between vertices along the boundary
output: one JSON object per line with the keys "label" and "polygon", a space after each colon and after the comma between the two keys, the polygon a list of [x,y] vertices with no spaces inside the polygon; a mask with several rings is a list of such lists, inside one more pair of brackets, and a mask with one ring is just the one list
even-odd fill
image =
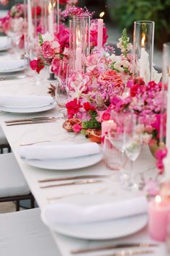
{"label": "chair with light grey cushion and dark frame, beside second-nearest plate", "polygon": [[0,155],[0,202],[16,201],[19,210],[20,200],[30,200],[31,208],[35,200],[13,153]]}

